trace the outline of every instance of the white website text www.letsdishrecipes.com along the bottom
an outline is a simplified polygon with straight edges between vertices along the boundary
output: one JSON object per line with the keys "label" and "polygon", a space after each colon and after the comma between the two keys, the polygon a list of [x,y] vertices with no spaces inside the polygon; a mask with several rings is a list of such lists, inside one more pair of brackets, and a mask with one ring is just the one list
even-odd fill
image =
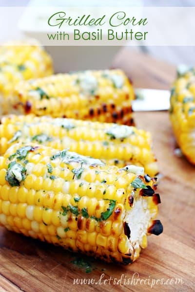
{"label": "white website text www.letsdishrecipes.com along the bottom", "polygon": [[106,278],[106,274],[102,273],[99,277],[99,279],[95,278],[74,278],[73,279],[74,285],[117,285],[117,286],[136,286],[136,285],[147,285],[150,288],[153,288],[154,286],[160,286],[160,285],[183,285],[183,279],[182,278],[158,278],[154,279],[150,276],[148,278],[140,278],[138,273],[134,273],[132,277],[128,277],[125,274],[121,274],[120,277],[114,278],[110,276],[109,278]]}

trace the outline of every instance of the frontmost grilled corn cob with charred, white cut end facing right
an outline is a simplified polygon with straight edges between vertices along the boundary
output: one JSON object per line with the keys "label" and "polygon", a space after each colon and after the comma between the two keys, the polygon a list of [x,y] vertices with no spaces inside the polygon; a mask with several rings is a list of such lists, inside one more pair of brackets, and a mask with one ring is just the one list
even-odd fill
{"label": "frontmost grilled corn cob with charred, white cut end facing right", "polygon": [[0,157],[0,224],[74,252],[133,262],[160,234],[159,195],[143,169],[14,144]]}

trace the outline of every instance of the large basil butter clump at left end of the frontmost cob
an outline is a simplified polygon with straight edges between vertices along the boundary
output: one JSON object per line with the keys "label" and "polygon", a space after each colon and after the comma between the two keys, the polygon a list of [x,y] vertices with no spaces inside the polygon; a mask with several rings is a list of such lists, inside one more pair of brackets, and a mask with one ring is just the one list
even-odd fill
{"label": "large basil butter clump at left end of the frontmost cob", "polygon": [[26,168],[21,164],[17,164],[16,161],[11,162],[8,165],[5,180],[11,186],[20,186],[20,182],[25,179]]}

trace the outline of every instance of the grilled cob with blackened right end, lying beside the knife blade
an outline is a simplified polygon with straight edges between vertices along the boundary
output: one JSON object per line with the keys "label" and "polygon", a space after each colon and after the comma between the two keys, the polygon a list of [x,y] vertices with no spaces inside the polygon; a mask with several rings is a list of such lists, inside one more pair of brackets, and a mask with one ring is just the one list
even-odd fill
{"label": "grilled cob with blackened right end, lying beside the knife blade", "polygon": [[11,104],[20,113],[133,125],[133,87],[120,70],[57,74],[21,82]]}

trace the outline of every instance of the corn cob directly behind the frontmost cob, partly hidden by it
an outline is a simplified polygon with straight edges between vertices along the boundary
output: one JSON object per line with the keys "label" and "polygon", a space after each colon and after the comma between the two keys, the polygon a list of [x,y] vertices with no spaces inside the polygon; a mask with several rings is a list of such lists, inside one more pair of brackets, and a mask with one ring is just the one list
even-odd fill
{"label": "corn cob directly behind the frontmost cob, partly hidden by it", "polygon": [[70,148],[118,167],[136,164],[156,176],[151,140],[150,132],[135,127],[45,116],[8,116],[0,125],[0,155],[16,141],[33,142],[59,150]]}

